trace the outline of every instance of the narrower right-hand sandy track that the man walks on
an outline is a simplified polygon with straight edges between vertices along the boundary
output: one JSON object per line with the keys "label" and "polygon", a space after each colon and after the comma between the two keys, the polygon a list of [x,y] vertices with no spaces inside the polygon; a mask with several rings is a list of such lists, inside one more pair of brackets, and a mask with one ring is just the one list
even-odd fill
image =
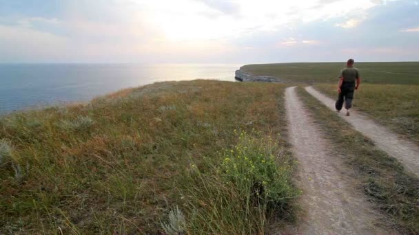
{"label": "narrower right-hand sandy track that the man walks on", "polygon": [[[306,87],[305,89],[320,102],[326,104],[327,107],[335,110],[335,100],[328,98],[313,87]],[[350,117],[345,116],[345,112],[338,114],[354,126],[356,131],[372,139],[378,148],[384,150],[390,156],[396,157],[409,172],[419,176],[419,147],[416,144],[402,139],[396,133],[376,124],[376,122],[356,110],[351,110]]]}

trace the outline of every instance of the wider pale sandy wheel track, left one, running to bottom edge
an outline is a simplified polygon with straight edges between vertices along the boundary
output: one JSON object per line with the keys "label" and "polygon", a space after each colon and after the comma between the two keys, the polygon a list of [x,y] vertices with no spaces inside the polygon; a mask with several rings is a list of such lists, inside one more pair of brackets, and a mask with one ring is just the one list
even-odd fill
{"label": "wider pale sandy wheel track, left one, running to bottom edge", "polygon": [[300,165],[298,176],[303,196],[300,207],[307,213],[296,234],[389,234],[377,223],[379,214],[362,193],[357,193],[340,157],[327,149],[295,87],[285,91],[289,137]]}

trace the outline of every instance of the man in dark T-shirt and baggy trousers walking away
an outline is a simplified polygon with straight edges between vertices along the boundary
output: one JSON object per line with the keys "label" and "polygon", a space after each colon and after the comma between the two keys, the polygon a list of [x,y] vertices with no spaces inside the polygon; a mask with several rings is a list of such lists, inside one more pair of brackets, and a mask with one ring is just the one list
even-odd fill
{"label": "man in dark T-shirt and baggy trousers walking away", "polygon": [[[354,67],[354,59],[347,61],[347,67],[340,71],[338,92],[339,98],[336,101],[336,111],[340,112],[345,101],[346,115],[349,116],[349,109],[352,107],[352,100],[354,99],[354,91],[358,89],[361,78],[358,69]],[[356,85],[355,85],[356,82]]]}

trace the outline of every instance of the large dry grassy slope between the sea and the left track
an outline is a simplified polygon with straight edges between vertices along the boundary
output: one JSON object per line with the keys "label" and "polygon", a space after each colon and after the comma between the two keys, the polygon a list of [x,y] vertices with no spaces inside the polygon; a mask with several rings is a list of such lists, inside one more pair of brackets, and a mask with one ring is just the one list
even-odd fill
{"label": "large dry grassy slope between the sea and the left track", "polygon": [[0,118],[0,234],[264,234],[294,218],[284,85],[195,80]]}

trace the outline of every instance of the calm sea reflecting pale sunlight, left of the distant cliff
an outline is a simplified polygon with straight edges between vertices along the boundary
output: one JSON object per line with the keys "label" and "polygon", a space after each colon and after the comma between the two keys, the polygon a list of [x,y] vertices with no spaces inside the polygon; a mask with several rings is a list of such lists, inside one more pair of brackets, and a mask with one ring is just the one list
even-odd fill
{"label": "calm sea reflecting pale sunlight, left of the distant cliff", "polygon": [[0,113],[85,101],[126,87],[196,78],[234,81],[241,65],[1,65]]}

